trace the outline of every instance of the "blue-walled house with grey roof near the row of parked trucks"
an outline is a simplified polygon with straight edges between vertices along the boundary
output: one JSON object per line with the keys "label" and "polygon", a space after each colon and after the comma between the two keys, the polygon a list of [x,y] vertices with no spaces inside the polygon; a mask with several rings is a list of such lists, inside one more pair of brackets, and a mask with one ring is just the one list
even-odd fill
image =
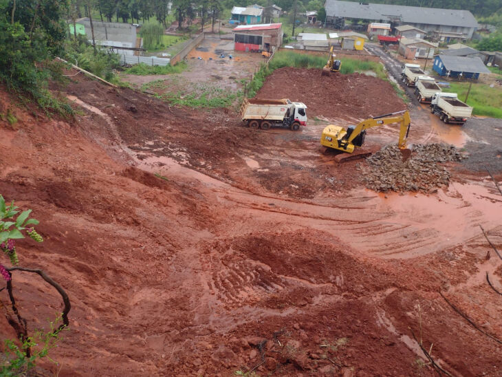
{"label": "blue-walled house with grey roof near the row of parked trucks", "polygon": [[479,74],[489,74],[480,58],[467,58],[465,56],[436,55],[433,69],[439,76],[479,78]]}

